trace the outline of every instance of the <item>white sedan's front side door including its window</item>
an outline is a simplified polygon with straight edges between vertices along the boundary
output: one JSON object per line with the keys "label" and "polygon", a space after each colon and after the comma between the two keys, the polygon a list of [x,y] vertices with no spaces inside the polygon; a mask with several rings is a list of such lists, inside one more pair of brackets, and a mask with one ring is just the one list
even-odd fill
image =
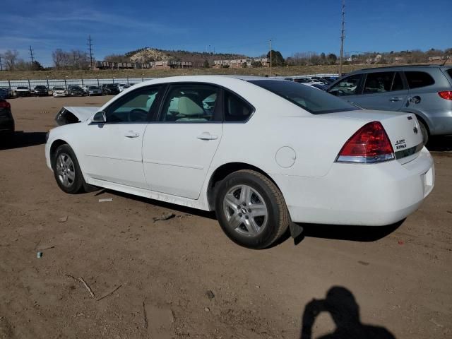
{"label": "white sedan's front side door including its window", "polygon": [[153,119],[159,86],[138,88],[105,109],[105,124],[88,126],[83,138],[85,174],[126,186],[147,189],[142,145],[148,121]]}

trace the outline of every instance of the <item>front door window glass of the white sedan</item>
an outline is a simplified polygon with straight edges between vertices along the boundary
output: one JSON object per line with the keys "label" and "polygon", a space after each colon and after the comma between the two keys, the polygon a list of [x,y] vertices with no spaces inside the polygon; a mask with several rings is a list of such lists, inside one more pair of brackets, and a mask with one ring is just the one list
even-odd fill
{"label": "front door window glass of the white sedan", "polygon": [[108,107],[107,123],[150,121],[157,112],[156,98],[160,86],[138,88]]}

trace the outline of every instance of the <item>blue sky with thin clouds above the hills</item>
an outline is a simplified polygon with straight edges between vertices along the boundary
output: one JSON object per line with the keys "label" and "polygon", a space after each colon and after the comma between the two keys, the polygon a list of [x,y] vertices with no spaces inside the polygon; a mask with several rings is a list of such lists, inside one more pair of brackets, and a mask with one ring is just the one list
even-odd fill
{"label": "blue sky with thin clouds above the hills", "polygon": [[[269,5],[266,5],[269,4]],[[272,4],[272,5],[270,5]],[[345,52],[452,47],[451,0],[346,0]],[[96,59],[141,47],[237,52],[340,49],[340,0],[1,0],[0,53],[30,44],[44,66],[52,51],[83,49]]]}

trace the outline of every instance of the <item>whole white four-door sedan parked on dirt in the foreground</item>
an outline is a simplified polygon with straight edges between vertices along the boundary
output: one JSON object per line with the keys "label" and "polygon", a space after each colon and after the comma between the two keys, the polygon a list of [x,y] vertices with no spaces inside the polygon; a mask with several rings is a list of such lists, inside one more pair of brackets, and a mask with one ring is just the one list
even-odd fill
{"label": "whole white four-door sedan parked on dirt in the foreground", "polygon": [[398,222],[434,186],[414,114],[359,109],[292,81],[160,78],[102,107],[64,107],[57,121],[66,125],[49,131],[45,156],[66,193],[97,186],[215,210],[249,248],[299,222]]}

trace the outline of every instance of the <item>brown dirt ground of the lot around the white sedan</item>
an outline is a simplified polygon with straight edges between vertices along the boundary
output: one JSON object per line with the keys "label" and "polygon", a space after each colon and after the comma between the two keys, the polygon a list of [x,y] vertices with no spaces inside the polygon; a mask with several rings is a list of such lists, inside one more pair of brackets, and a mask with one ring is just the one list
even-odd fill
{"label": "brown dirt ground of the lot around the white sedan", "polygon": [[[450,141],[434,145],[434,191],[401,225],[305,225],[297,244],[253,251],[210,213],[59,190],[45,132],[61,106],[105,100],[10,100],[20,132],[0,145],[0,338],[452,338]],[[177,216],[153,222],[165,212]]]}

